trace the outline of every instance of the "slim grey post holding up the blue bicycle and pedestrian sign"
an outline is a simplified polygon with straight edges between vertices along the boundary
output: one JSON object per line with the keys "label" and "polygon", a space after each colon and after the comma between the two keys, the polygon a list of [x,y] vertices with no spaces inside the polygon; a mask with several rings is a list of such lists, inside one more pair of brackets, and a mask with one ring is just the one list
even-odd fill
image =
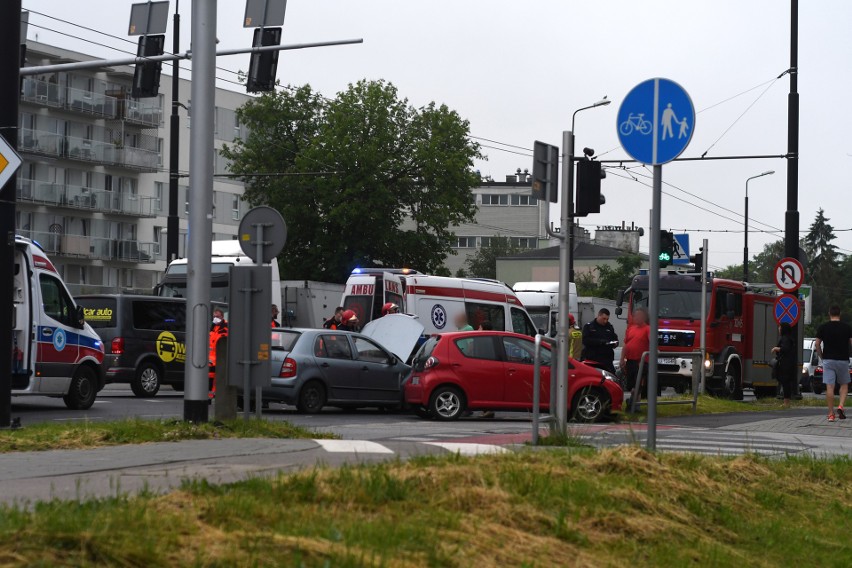
{"label": "slim grey post holding up the blue bicycle and pedestrian sign", "polygon": [[648,345],[648,449],[657,448],[657,352],[660,329],[660,208],[663,193],[663,166],[654,166],[651,202],[651,252],[648,255],[648,316],[650,337]]}

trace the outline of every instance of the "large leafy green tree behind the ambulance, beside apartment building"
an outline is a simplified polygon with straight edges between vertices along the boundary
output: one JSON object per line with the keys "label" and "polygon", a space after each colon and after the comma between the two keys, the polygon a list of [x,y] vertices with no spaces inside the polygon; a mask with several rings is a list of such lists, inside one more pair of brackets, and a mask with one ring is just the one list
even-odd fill
{"label": "large leafy green tree behind the ambulance, beside apartment building", "polygon": [[452,227],[473,218],[479,146],[444,105],[414,108],[392,84],[363,80],[330,100],[310,86],[266,93],[237,115],[248,135],[222,155],[246,200],[287,222],[287,278],[342,281],[356,266],[434,272]]}

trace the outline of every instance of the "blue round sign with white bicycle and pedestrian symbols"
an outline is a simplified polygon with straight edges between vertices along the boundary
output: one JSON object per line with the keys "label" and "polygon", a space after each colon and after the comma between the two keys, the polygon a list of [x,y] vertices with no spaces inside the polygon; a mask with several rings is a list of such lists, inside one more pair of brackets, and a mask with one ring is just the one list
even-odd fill
{"label": "blue round sign with white bicycle and pedestrian symbols", "polygon": [[618,108],[618,140],[624,151],[649,166],[671,162],[695,131],[695,107],[669,79],[648,79],[627,93]]}

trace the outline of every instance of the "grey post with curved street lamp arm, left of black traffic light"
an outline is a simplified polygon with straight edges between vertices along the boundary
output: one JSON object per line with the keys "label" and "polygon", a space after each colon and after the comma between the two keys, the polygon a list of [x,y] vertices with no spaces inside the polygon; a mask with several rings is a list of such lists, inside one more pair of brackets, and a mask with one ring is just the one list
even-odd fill
{"label": "grey post with curved street lamp arm, left of black traffic light", "polygon": [[559,325],[556,334],[558,379],[555,405],[556,426],[560,433],[564,433],[568,428],[568,311],[574,268],[574,119],[582,110],[606,106],[610,102],[602,99],[593,105],[575,110],[571,116],[571,130],[562,133],[562,240],[559,243]]}

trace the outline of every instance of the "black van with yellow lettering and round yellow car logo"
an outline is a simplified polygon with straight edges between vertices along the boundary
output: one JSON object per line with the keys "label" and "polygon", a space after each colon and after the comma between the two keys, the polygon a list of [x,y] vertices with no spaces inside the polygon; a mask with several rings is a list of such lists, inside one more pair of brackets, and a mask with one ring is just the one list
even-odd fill
{"label": "black van with yellow lettering and round yellow car logo", "polygon": [[183,390],[186,300],[128,294],[75,296],[104,343],[107,383],[130,383],[152,397],[161,385]]}

